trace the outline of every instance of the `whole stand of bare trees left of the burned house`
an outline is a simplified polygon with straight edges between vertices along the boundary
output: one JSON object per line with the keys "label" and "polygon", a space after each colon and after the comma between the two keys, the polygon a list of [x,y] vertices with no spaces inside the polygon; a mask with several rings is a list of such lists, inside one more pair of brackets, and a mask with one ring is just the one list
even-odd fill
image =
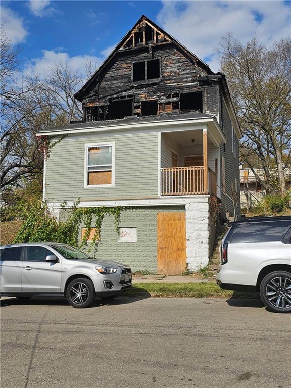
{"label": "whole stand of bare trees left of the burned house", "polygon": [[19,186],[23,179],[42,173],[44,140],[36,138],[35,132],[82,118],[81,104],[74,94],[84,78],[67,62],[53,64],[46,74],[25,76],[19,70],[18,54],[19,50],[2,33],[1,190]]}

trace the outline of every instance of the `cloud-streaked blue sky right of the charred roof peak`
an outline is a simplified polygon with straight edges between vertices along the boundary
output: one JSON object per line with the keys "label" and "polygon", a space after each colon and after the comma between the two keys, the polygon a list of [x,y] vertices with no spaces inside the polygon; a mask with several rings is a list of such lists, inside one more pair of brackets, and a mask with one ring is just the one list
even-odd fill
{"label": "cloud-streaked blue sky right of the charred roof peak", "polygon": [[242,42],[256,35],[267,46],[291,35],[291,7],[283,1],[163,1],[157,19],[213,71],[219,70],[214,47],[228,31]]}

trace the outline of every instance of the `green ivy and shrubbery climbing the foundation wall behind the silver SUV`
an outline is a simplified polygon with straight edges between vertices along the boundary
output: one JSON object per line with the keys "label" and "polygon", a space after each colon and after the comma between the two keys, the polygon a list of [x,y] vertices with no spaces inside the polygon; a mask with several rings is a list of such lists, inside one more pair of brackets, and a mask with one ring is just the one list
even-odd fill
{"label": "green ivy and shrubbery climbing the foundation wall behind the silver SUV", "polygon": [[[62,208],[66,211],[66,219],[58,220],[47,208],[46,203],[36,202],[33,206],[24,206],[21,209],[20,219],[23,220],[22,226],[17,233],[14,242],[35,242],[35,241],[57,241],[77,247],[83,247],[90,235],[91,229],[95,228],[90,247],[98,245],[100,240],[100,231],[102,221],[106,215],[114,217],[115,230],[118,233],[120,215],[128,207],[96,207],[81,208],[78,207],[79,201],[74,203],[71,208],[66,208],[66,203]],[[84,224],[86,231],[81,243],[79,243],[80,225]],[[90,248],[89,248],[90,249]]]}

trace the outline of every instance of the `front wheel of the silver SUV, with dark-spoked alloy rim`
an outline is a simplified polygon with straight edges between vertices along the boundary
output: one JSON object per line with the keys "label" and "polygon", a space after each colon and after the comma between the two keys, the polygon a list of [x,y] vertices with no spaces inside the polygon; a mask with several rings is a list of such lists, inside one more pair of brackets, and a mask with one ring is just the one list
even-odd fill
{"label": "front wheel of the silver SUV, with dark-spoked alloy rim", "polygon": [[67,287],[66,297],[69,304],[76,309],[91,306],[95,299],[92,281],[85,277],[72,280]]}

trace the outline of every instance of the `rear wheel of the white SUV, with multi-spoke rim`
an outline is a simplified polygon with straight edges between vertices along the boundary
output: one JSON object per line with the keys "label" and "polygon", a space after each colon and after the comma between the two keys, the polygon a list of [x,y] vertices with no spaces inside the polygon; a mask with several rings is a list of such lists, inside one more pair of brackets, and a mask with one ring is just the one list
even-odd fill
{"label": "rear wheel of the white SUV, with multi-spoke rim", "polygon": [[260,285],[260,295],[265,306],[276,313],[291,311],[291,273],[287,271],[271,272],[264,277]]}

